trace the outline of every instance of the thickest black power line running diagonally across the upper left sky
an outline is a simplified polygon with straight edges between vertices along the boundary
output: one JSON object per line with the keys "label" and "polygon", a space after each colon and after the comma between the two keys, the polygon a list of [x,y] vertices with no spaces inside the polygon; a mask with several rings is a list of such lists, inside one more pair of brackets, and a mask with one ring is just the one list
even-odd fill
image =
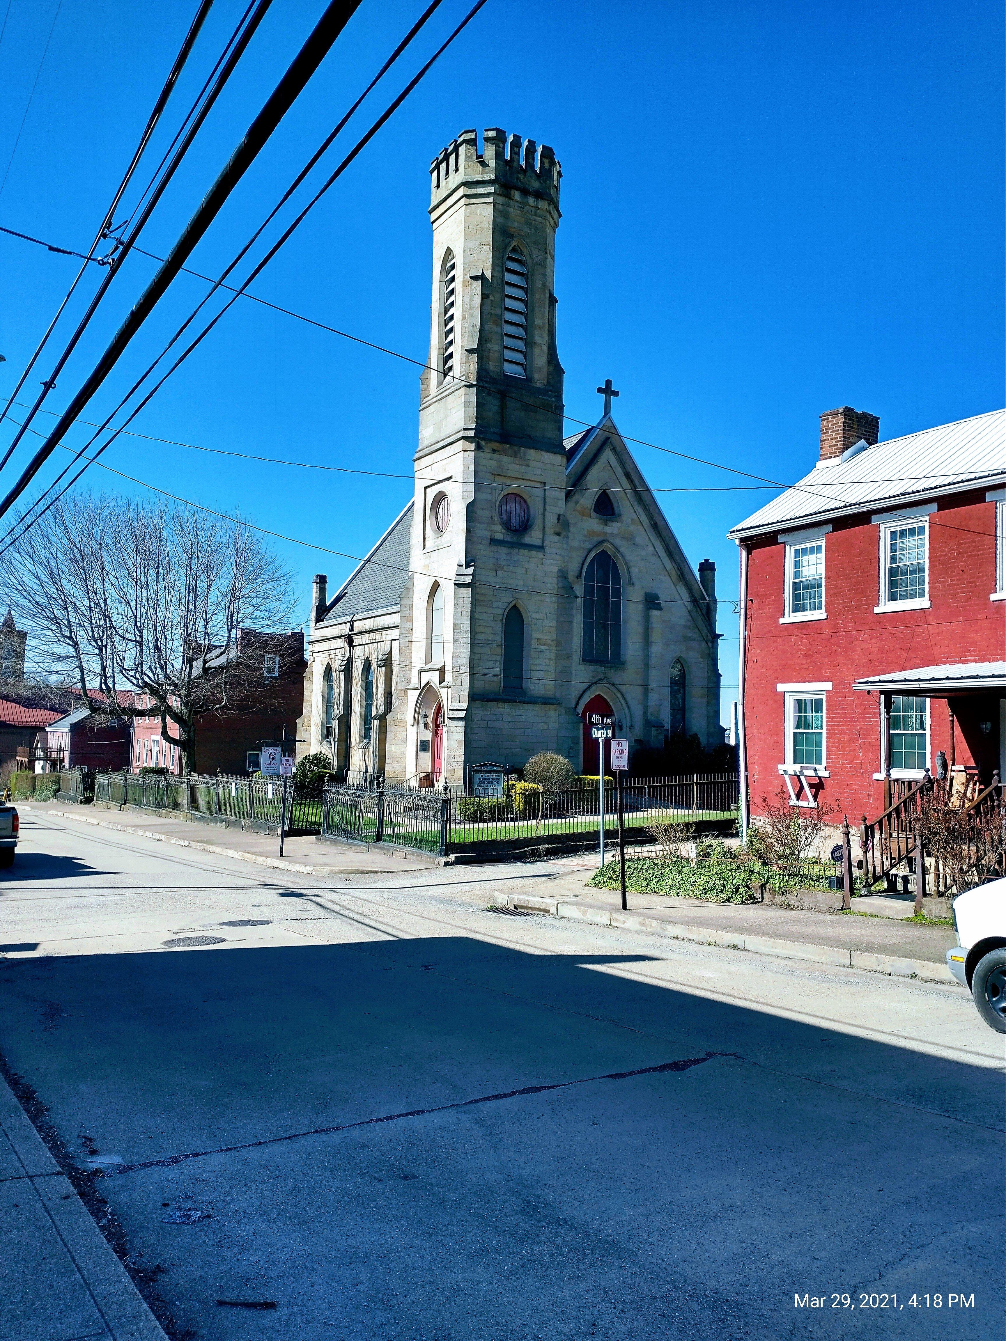
{"label": "thickest black power line running diagonally across the upper left sky", "polygon": [[[256,13],[264,13],[270,0],[259,0]],[[484,3],[484,0],[483,0]],[[274,130],[302,93],[311,75],[331,50],[335,39],[359,5],[359,0],[330,0],[322,17],[315,24],[303,47],[294,58],[288,70],[279,80],[272,94],[252,121],[244,138],[232,153],[228,164],[219,174],[203,202],[196,209],[189,223],[182,229],[181,236],[168,253],[164,266],[157,271],[146,290],[137,299],[126,320],[118,329],[102,357],[99,358],[83,386],[72,397],[70,405],[63,412],[59,422],[50,433],[48,439],[38,449],[32,460],[21,472],[20,479],[0,503],[0,516],[3,516],[20,498],[43,464],[52,455],[56,444],[66,429],[72,424],[76,414],[90,401],[109,373],[113,370],[130,341],[150,315],[168,286],[185,264],[199,240],[204,236],[211,223],[216,219],[224,202],[245,174],[248,168],[259,156]],[[255,15],[252,16],[252,20]]]}

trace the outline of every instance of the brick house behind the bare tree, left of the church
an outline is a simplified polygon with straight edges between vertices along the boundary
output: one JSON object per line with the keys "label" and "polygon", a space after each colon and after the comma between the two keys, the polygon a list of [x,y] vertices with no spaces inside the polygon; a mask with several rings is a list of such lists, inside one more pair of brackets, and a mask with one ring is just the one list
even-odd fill
{"label": "brick house behind the bare tree, left of the church", "polygon": [[[254,658],[255,676],[260,672],[260,683],[254,684],[248,676],[241,695],[227,712],[209,711],[197,716],[193,771],[251,774],[259,768],[263,744],[280,744],[284,728],[290,743],[287,752],[294,752],[304,699],[304,636],[299,630],[267,634],[241,629],[233,653],[220,650],[207,654],[204,673],[215,675],[225,656],[231,660],[235,656]],[[149,707],[150,703],[149,697],[137,695],[137,707]],[[165,735],[160,717],[134,717],[129,751],[131,771],[158,767],[182,772],[182,751],[170,739],[177,739],[177,734],[170,720]]]}

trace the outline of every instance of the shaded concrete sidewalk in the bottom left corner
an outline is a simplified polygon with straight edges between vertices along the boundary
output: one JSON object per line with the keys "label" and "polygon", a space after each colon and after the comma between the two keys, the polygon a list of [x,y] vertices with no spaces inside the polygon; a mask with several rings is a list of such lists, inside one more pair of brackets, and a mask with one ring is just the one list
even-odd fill
{"label": "shaded concrete sidewalk in the bottom left corner", "polygon": [[11,1341],[166,1341],[1,1078],[0,1219],[0,1334]]}

